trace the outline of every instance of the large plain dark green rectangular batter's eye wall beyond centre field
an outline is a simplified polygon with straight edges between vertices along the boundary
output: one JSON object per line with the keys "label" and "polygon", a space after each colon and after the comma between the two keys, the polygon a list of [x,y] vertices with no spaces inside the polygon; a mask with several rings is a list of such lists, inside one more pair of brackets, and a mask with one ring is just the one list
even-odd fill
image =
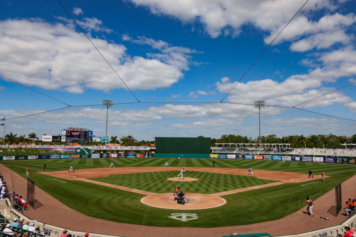
{"label": "large plain dark green rectangular batter's eye wall beyond centre field", "polygon": [[210,154],[210,138],[156,137],[156,153]]}

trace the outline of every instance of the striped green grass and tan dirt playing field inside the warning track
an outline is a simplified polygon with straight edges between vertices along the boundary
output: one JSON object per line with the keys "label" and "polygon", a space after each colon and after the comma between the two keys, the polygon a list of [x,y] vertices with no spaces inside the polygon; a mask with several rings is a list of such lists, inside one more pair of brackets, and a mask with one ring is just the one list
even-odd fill
{"label": "striped green grass and tan dirt playing field inside the warning track", "polygon": [[[169,168],[163,167],[166,161]],[[1,164],[24,178],[25,169],[30,166],[30,178],[37,187],[85,215],[162,227],[238,226],[281,219],[303,208],[306,195],[312,194],[315,200],[356,174],[353,165],[215,161],[215,168],[212,160],[189,158],[27,160]],[[109,169],[111,162],[115,168]],[[71,165],[75,173],[68,173]],[[246,175],[249,167],[253,175]],[[182,168],[186,171],[184,179],[178,180]],[[314,179],[308,178],[309,170],[313,171]],[[325,182],[321,181],[322,170]],[[173,201],[173,191],[178,186],[192,203],[177,205]],[[145,202],[148,196],[151,200]],[[176,212],[172,209],[179,209],[179,213],[194,210],[198,218],[190,221],[169,218]]]}

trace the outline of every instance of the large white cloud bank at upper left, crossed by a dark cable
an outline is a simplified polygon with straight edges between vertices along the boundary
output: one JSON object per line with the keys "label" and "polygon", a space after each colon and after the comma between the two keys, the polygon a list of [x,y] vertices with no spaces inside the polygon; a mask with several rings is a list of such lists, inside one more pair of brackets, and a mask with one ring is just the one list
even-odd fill
{"label": "large white cloud bank at upper left, crossed by a dark cable", "polygon": [[[81,24],[92,31],[111,31],[95,18],[85,18]],[[104,92],[126,89],[88,39],[74,28],[72,23],[51,24],[41,19],[0,21],[0,73],[27,86],[70,93],[83,93],[88,88]],[[183,77],[182,70],[189,70],[190,54],[195,50],[141,40],[161,53],[131,57],[124,45],[91,39],[132,90],[171,87]]]}

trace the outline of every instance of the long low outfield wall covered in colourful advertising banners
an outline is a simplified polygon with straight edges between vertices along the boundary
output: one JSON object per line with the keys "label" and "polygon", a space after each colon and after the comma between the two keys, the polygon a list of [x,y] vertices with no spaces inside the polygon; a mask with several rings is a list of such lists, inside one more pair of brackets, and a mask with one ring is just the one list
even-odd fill
{"label": "long low outfield wall covered in colourful advertising banners", "polygon": [[91,153],[76,155],[15,155],[0,156],[0,161],[44,160],[69,158],[216,158],[237,160],[298,161],[317,163],[336,163],[356,165],[356,158],[320,156],[274,156],[274,155],[236,155],[236,154],[187,154],[187,153]]}

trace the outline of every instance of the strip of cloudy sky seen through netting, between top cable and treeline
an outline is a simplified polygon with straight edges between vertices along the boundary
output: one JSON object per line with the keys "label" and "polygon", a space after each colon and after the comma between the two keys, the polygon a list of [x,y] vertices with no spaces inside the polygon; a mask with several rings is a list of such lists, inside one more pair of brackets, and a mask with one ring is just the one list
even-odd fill
{"label": "strip of cloudy sky seen through netting, between top cable and treeline", "polygon": [[[38,111],[38,113],[44,111]],[[28,115],[28,111],[20,111]],[[20,114],[19,114],[20,115]],[[125,103],[108,109],[108,136],[131,135],[138,141],[162,137],[211,137],[224,134],[257,138],[258,108],[253,104],[233,103]],[[6,134],[58,135],[68,127],[93,130],[105,136],[106,107],[75,106],[36,115],[7,118]],[[354,120],[336,118],[290,107],[261,108],[261,136],[275,134],[309,136],[329,134],[351,136]],[[39,137],[39,139],[41,139]]]}

